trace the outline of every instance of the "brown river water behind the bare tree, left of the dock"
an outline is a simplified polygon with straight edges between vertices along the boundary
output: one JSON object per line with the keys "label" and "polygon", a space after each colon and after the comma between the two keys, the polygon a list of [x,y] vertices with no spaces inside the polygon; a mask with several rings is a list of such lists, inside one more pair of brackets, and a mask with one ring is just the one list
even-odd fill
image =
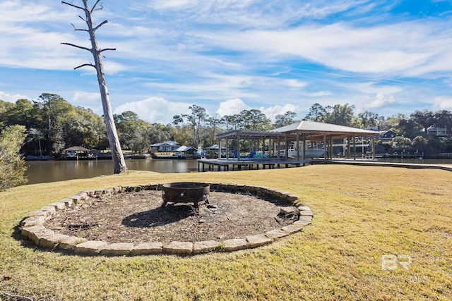
{"label": "brown river water behind the bare tree, left of the dock", "polygon": [[[93,178],[113,174],[111,160],[26,161],[28,184],[56,182],[81,178]],[[196,160],[126,160],[127,168],[157,173],[189,173],[198,171]]]}

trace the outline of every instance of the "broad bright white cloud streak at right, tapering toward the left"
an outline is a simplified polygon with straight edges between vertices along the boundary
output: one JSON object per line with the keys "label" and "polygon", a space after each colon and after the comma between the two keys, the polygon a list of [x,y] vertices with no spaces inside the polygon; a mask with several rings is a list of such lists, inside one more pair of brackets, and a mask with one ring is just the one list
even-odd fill
{"label": "broad bright white cloud streak at right, tapering toward the left", "polygon": [[435,70],[438,62],[445,63],[442,70],[451,70],[452,63],[445,59],[452,39],[446,23],[442,26],[425,20],[374,27],[333,23],[199,35],[212,44],[254,53],[256,61],[307,59],[338,70],[385,76],[428,73]]}

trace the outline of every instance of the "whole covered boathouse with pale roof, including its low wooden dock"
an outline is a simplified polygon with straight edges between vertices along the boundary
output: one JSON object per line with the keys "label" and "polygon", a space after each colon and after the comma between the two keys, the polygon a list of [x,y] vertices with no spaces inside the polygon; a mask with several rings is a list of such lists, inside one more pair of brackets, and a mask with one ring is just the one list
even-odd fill
{"label": "whole covered boathouse with pale roof, including its low wooden dock", "polygon": [[[218,171],[221,168],[225,171],[242,167],[251,169],[254,165],[256,168],[259,168],[259,165],[262,168],[301,166],[310,163],[314,157],[331,160],[333,140],[337,139],[346,140],[345,158],[356,159],[357,137],[371,138],[369,158],[374,159],[376,135],[379,135],[379,132],[374,130],[307,120],[267,131],[232,130],[217,135],[219,147],[224,145],[226,149],[234,149],[232,155],[225,152],[225,156],[220,154],[215,160],[198,160],[198,171],[205,171],[206,166],[209,170],[216,166]],[[251,147],[247,150],[248,155],[245,156],[240,154],[240,142],[243,140],[251,142]],[[321,145],[322,149],[314,151],[314,144]]]}

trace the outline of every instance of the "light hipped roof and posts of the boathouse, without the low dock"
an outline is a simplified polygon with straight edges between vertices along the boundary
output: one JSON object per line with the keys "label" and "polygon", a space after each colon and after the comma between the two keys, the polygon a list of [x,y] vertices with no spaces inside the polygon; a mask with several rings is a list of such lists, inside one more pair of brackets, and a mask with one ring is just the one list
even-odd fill
{"label": "light hipped roof and posts of the boathouse, without the low dock", "polygon": [[[268,153],[270,156],[276,156],[278,158],[282,155],[280,145],[284,142],[285,159],[289,157],[289,145],[292,142],[292,144],[295,144],[295,156],[299,161],[304,160],[307,156],[307,142],[323,142],[323,158],[328,159],[328,154],[332,154],[333,140],[335,139],[346,139],[346,157],[350,159],[351,148],[353,146],[353,158],[356,159],[357,137],[371,137],[371,157],[374,159],[376,135],[379,135],[379,132],[374,130],[363,130],[343,125],[304,120],[268,131],[233,130],[217,135],[217,139],[220,147],[222,140],[225,140],[227,149],[229,148],[229,140],[236,140],[237,151],[240,140],[256,140],[257,145],[260,140],[268,140]],[[278,147],[275,147],[275,144]],[[250,149],[250,152],[252,151],[253,149]],[[228,159],[228,155],[226,159]],[[240,156],[237,156],[237,159],[240,160]]]}

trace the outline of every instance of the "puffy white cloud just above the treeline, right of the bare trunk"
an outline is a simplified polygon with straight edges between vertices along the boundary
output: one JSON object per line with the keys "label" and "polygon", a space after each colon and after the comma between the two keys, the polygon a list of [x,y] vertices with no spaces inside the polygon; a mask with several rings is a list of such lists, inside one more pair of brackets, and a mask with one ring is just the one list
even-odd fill
{"label": "puffy white cloud just above the treeline, right of the bare trunk", "polygon": [[127,102],[114,109],[115,114],[133,111],[144,121],[149,123],[172,123],[172,117],[178,114],[189,113],[189,106],[182,102],[168,102],[162,97],[150,97],[138,102]]}

